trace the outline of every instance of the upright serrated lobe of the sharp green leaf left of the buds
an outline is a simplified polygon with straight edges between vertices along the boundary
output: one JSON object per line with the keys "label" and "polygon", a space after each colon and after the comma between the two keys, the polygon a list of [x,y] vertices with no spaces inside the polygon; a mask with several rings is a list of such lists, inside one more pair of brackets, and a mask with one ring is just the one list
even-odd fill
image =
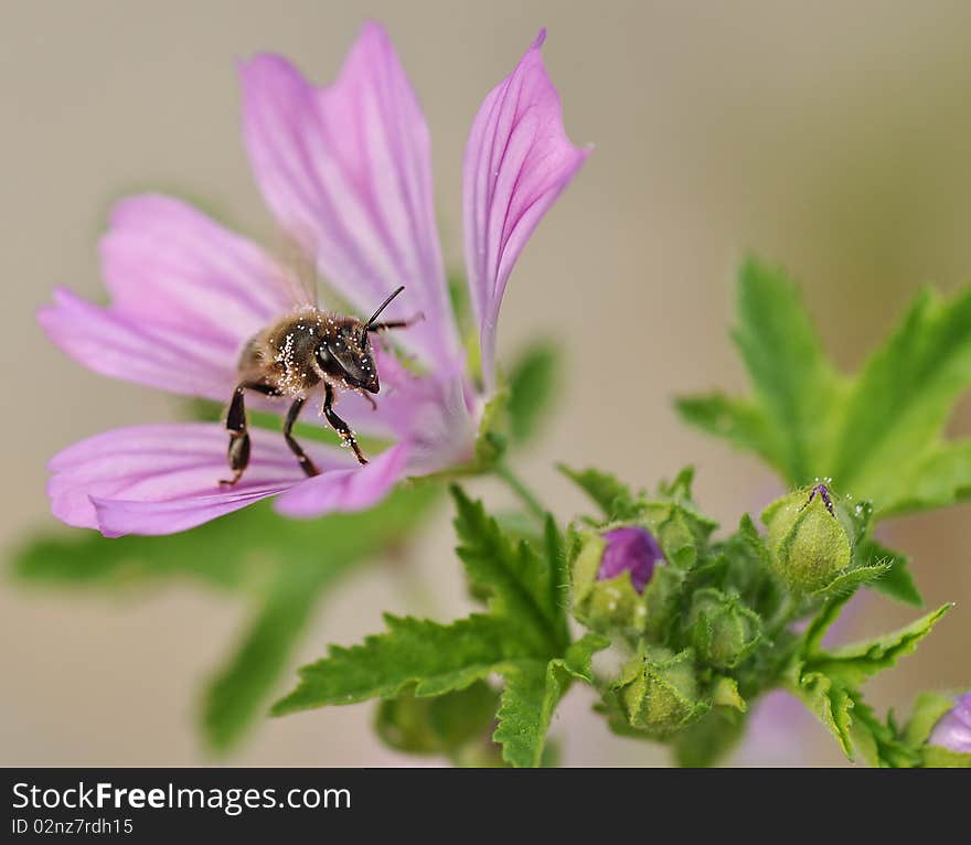
{"label": "upright serrated lobe of the sharp green leaf left of the buds", "polygon": [[555,548],[540,555],[525,541],[512,543],[481,502],[452,488],[456,502],[456,549],[473,587],[490,592],[489,609],[520,627],[535,645],[535,654],[556,654],[569,641],[563,602],[566,584],[563,552],[555,525],[547,521],[546,541]]}

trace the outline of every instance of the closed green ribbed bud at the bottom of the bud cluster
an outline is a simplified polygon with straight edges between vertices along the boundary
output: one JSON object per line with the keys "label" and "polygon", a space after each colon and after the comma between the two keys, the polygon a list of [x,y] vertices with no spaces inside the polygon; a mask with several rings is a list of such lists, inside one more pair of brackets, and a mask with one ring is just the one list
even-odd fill
{"label": "closed green ribbed bud at the bottom of the bud cluster", "polygon": [[648,645],[631,660],[613,687],[631,727],[664,737],[704,716],[711,705],[698,700],[694,654],[674,654]]}

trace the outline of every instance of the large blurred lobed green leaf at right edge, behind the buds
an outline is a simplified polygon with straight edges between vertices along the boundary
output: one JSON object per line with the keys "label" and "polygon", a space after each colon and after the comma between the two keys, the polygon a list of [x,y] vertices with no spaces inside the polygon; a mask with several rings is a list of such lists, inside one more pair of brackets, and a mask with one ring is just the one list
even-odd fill
{"label": "large blurred lobed green leaf at right edge, behind the buds", "polygon": [[881,518],[971,495],[971,443],[943,439],[971,385],[971,291],[951,299],[921,292],[850,377],[830,363],[781,270],[744,264],[737,319],[751,397],[682,398],[685,421],[756,452],[791,485],[833,478],[872,500]]}

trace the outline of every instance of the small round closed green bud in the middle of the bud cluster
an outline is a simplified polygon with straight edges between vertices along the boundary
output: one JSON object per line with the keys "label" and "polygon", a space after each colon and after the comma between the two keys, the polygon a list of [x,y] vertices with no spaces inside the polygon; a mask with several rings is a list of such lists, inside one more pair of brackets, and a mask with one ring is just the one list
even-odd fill
{"label": "small round closed green bud in the middle of the bud cluster", "polygon": [[761,622],[737,597],[706,587],[694,593],[689,631],[702,661],[734,668],[758,645]]}

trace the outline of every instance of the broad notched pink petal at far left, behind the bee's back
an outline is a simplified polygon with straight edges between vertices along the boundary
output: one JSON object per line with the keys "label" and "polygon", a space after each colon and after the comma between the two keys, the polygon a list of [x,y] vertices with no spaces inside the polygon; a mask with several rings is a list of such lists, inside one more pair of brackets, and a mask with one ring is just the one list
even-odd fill
{"label": "broad notched pink petal at far left, behind the bee's back", "polygon": [[115,207],[102,266],[109,308],[61,289],[41,325],[92,370],[174,393],[225,400],[246,340],[298,303],[256,246],[166,196]]}

